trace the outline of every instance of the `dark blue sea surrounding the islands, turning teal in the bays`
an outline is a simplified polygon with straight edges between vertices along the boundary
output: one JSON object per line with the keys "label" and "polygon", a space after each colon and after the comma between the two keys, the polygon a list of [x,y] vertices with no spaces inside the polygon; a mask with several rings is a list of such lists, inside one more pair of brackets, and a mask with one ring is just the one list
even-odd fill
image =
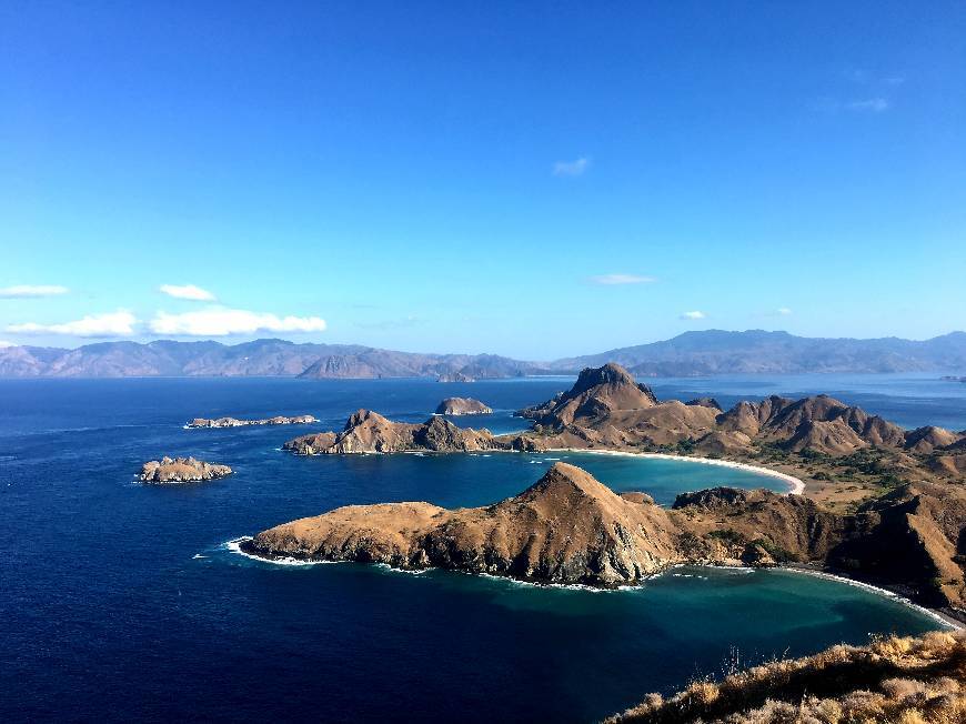
{"label": "dark blue sea surrounding the islands, turning teal in the bays", "polygon": [[[310,429],[340,428],[359,406],[423,420],[450,394],[497,409],[461,424],[520,429],[510,411],[568,384],[0,382],[0,718],[591,721],[714,673],[734,651],[757,661],[935,627],[896,601],[788,572],[680,569],[600,593],[439,571],[284,566],[227,545],[348,503],[477,505],[514,494],[563,455],[304,459],[279,446]],[[749,384],[654,386],[726,402]],[[849,384],[841,396],[887,416],[902,412],[905,424],[935,414],[966,426],[963,399],[928,385],[917,396]],[[182,429],[200,415],[276,413],[322,423]],[[162,454],[194,454],[237,473],[187,486],[132,481]],[[570,461],[662,502],[717,483],[782,487],[697,463]]]}

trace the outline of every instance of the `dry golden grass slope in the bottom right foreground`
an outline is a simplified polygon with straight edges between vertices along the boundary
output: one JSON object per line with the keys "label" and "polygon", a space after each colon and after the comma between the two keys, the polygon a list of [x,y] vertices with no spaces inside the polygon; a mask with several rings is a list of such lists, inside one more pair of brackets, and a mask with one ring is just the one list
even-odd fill
{"label": "dry golden grass slope in the bottom right foreground", "polygon": [[963,724],[966,634],[889,636],[833,646],[658,694],[611,722],[725,724]]}

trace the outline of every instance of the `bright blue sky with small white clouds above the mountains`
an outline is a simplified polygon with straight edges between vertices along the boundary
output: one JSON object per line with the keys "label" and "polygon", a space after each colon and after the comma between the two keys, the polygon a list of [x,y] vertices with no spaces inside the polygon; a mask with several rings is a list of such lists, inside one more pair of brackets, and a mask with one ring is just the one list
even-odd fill
{"label": "bright blue sky with small white clouds above the mountains", "polygon": [[4,343],[966,328],[963,3],[7,0],[0,48]]}

